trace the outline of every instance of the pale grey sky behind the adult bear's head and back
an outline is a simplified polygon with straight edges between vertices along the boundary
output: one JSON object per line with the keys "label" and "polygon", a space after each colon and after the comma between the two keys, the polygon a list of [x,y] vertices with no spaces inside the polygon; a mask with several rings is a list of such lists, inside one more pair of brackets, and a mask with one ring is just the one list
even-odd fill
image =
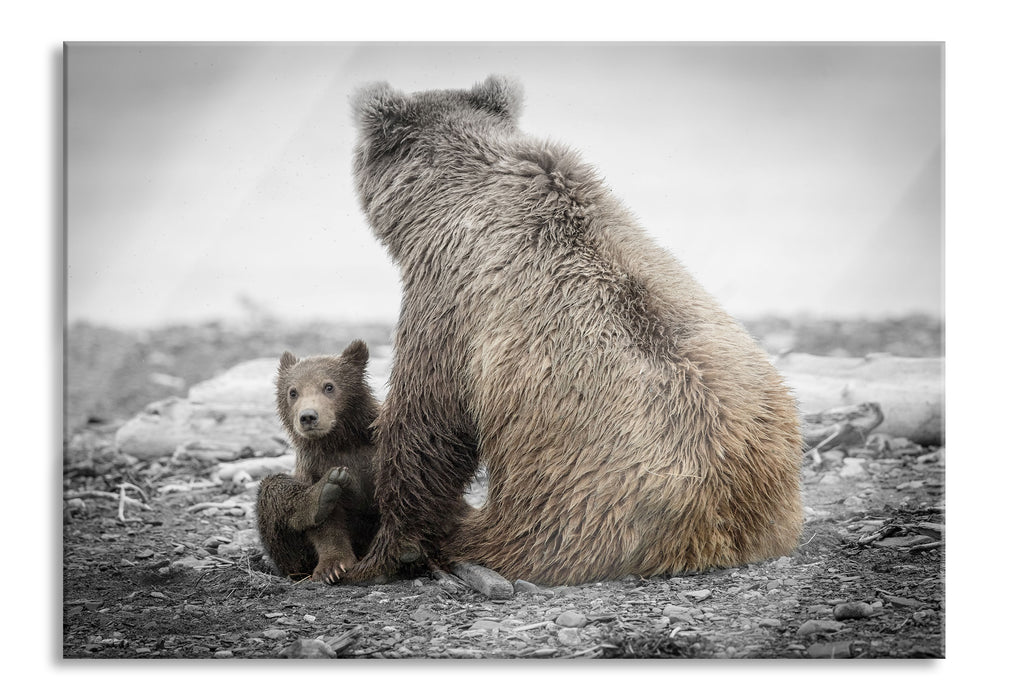
{"label": "pale grey sky behind the adult bear's head and back", "polygon": [[941,316],[942,65],[937,43],[72,43],[69,320],[227,319],[240,298],[395,320],[347,97],[490,73],[730,313]]}

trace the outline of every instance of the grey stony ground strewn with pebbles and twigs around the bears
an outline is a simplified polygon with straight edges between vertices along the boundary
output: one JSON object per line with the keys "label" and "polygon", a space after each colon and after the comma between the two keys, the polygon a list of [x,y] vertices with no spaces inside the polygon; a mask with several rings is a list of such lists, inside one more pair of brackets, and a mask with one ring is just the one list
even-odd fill
{"label": "grey stony ground strewn with pebbles and twigs around the bears", "polygon": [[[833,337],[835,347],[818,351],[863,354],[899,342],[901,354],[941,352],[937,325],[912,319],[880,328],[848,329]],[[816,333],[751,327],[764,337],[761,329],[798,351],[817,351],[808,339],[830,335],[822,324]],[[116,428],[140,400],[184,393],[242,359],[287,347],[322,352],[359,335],[380,342],[387,329],[338,333],[69,330],[65,659],[945,656],[941,446],[875,436],[807,459],[805,532],[789,557],[687,576],[519,584],[502,600],[451,578],[370,587],[281,578],[253,537],[254,487],[215,483],[212,464],[143,462],[115,450]],[[232,352],[201,365],[217,347]]]}

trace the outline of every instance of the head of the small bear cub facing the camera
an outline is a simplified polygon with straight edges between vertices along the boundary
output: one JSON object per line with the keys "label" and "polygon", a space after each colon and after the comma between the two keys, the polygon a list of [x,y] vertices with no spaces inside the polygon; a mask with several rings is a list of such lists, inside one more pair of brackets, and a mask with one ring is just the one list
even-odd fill
{"label": "head of the small bear cub facing the camera", "polygon": [[366,430],[374,418],[365,379],[368,347],[355,340],[340,355],[298,359],[285,352],[276,372],[276,412],[291,437],[319,440]]}

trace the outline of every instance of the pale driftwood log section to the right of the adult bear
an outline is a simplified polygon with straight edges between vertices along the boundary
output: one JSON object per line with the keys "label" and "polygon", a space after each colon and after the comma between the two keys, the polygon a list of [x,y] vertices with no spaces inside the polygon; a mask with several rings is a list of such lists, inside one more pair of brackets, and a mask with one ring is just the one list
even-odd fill
{"label": "pale driftwood log section to the right of the adult bear", "polygon": [[[775,360],[806,418],[806,442],[812,437],[815,415],[860,409],[876,404],[882,420],[873,423],[872,410],[856,411],[862,417],[853,427],[874,430],[920,445],[939,445],[944,440],[944,361],[942,358],[894,357],[820,357],[788,354]],[[827,423],[821,420],[820,425]],[[837,422],[835,422],[837,423]],[[822,439],[822,436],[821,436]],[[814,443],[815,444],[815,443]]]}

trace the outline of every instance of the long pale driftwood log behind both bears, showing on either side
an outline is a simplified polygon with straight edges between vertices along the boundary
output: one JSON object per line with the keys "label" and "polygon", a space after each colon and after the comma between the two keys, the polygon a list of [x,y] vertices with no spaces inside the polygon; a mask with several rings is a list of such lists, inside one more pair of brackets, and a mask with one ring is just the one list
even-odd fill
{"label": "long pale driftwood log behind both bears, showing on either side", "polygon": [[[388,360],[374,358],[369,373],[378,396],[385,392]],[[273,404],[276,362],[271,357],[244,362],[194,385],[186,398],[151,403],[120,428],[118,449],[148,460],[179,451],[220,461],[246,453],[283,455],[288,445]],[[775,363],[795,391],[803,416],[872,402],[884,416],[877,432],[925,445],[942,442],[941,359],[788,354]]]}

